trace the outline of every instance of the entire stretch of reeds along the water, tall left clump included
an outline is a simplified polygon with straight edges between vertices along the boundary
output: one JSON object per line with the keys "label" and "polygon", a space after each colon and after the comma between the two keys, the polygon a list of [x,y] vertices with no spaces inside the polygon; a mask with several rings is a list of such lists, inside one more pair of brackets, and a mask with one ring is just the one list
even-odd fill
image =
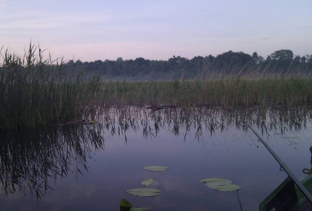
{"label": "entire stretch of reeds along the water, tall left clump included", "polygon": [[[100,109],[122,106],[229,107],[312,104],[311,69],[302,64],[276,69],[205,69],[192,79],[182,71],[166,81],[112,81],[98,72],[44,59],[30,43],[23,57],[0,50],[0,129],[47,126],[83,119]],[[257,68],[258,67],[258,68]],[[168,73],[173,75],[174,73]],[[170,78],[170,77],[169,77]],[[92,115],[91,115],[92,116]]]}

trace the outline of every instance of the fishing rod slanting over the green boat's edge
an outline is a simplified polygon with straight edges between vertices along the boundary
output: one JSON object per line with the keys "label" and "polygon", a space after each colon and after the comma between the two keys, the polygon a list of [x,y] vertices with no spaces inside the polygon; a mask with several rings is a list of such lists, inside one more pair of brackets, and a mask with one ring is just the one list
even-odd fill
{"label": "fishing rod slanting over the green boat's edge", "polygon": [[[261,141],[263,143],[263,145],[266,147],[267,150],[269,150],[269,152],[271,153],[271,155],[275,158],[275,160],[278,162],[278,164],[280,164],[280,167],[288,174],[288,176],[292,179],[292,181],[294,181],[294,183],[296,184],[297,188],[300,189],[300,191],[303,193],[303,195],[305,196],[305,198],[308,199],[308,201],[311,203],[312,205],[312,196],[309,193],[309,191],[303,186],[302,183],[300,183],[299,179],[296,178],[295,174],[292,173],[290,171],[290,169],[285,165],[285,163],[277,156],[277,154],[275,154],[275,152],[271,149],[271,147],[260,137],[260,135],[245,121],[245,119],[241,118],[245,124],[251,129],[251,131],[253,133],[255,133],[255,135],[259,138],[258,141]],[[312,153],[312,151],[311,151]],[[311,162],[312,162],[312,157],[311,157]]]}

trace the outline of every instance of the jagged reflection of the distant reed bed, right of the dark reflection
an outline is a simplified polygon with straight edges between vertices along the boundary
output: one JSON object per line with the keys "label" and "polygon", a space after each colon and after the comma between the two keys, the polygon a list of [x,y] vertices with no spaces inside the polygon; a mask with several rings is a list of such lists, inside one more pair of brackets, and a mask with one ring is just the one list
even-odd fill
{"label": "jagged reflection of the distant reed bed, right of the dark reflection", "polygon": [[[311,123],[312,110],[310,107],[297,108],[178,108],[152,111],[136,107],[125,109],[109,109],[103,113],[106,130],[112,135],[118,130],[119,136],[126,132],[143,131],[144,138],[156,137],[160,130],[166,130],[175,136],[186,136],[195,131],[194,138],[199,140],[203,131],[210,135],[216,131],[222,133],[229,128],[249,132],[244,124],[245,119],[250,125],[257,128],[262,135],[285,134],[285,132],[299,132],[306,129]],[[118,129],[117,129],[118,128]]]}

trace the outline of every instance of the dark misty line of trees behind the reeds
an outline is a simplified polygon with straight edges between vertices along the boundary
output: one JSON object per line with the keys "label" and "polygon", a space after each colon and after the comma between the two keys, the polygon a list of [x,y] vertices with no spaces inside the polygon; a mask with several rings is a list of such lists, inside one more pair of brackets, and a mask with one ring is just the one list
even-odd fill
{"label": "dark misty line of trees behind the reeds", "polygon": [[147,79],[191,79],[203,73],[230,74],[250,72],[270,73],[310,73],[312,70],[312,54],[299,56],[291,50],[281,49],[271,53],[264,59],[258,53],[249,55],[244,52],[228,51],[217,56],[195,56],[188,59],[173,56],[168,60],[149,60],[142,57],[123,60],[96,60],[81,62],[69,60],[67,68],[78,68],[88,73],[99,73],[105,78],[128,78],[133,80]]}

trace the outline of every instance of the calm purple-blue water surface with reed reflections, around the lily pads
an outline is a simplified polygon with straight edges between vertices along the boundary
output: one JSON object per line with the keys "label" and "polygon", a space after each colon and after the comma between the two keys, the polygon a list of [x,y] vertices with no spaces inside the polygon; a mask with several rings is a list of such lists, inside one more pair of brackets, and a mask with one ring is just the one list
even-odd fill
{"label": "calm purple-blue water surface with reed reflections, around the lily pads", "polygon": [[[2,133],[1,210],[119,210],[121,199],[150,210],[257,210],[286,173],[241,118],[298,178],[310,167],[310,107],[105,111],[95,125]],[[165,172],[144,166],[169,167]],[[125,191],[156,178],[159,196]],[[209,189],[228,178],[236,192]],[[237,196],[238,194],[238,196]]]}

